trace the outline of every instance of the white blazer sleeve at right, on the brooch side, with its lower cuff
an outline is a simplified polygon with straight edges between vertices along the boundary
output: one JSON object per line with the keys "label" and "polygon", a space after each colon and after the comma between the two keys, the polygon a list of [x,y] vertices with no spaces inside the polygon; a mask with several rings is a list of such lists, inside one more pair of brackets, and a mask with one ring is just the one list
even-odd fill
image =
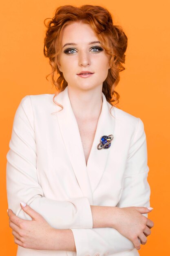
{"label": "white blazer sleeve at right, on the brooch side, with its lower cuff", "polygon": [[[144,124],[138,118],[137,127],[128,152],[123,191],[117,207],[150,207],[147,161]],[[148,216],[147,213],[143,215]],[[94,255],[95,253],[108,255],[135,248],[128,238],[122,236],[114,228],[71,230],[75,240],[77,256]]]}

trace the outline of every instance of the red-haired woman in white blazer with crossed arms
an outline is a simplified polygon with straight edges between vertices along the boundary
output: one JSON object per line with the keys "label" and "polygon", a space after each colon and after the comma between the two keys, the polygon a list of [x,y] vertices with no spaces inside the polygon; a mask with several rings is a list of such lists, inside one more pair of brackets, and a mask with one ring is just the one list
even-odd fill
{"label": "red-haired woman in white blazer with crossed arms", "polygon": [[144,124],[115,107],[126,47],[103,7],[62,6],[47,25],[57,93],[21,100],[7,153],[17,256],[135,256],[146,244],[154,224]]}

